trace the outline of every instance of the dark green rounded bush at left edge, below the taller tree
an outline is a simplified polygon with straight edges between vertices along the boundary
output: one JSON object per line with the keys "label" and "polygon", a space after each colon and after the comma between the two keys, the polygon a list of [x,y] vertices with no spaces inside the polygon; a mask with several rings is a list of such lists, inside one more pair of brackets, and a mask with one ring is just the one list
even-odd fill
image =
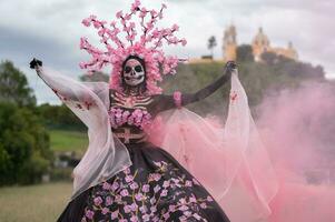
{"label": "dark green rounded bush at left edge, below the taller tree", "polygon": [[52,161],[49,135],[28,108],[0,103],[0,185],[39,182]]}

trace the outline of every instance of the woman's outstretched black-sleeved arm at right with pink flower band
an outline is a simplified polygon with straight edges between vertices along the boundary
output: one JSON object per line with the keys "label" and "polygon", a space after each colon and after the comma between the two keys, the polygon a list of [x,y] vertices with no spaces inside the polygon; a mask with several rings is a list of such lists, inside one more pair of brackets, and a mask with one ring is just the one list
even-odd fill
{"label": "woman's outstretched black-sleeved arm at right with pink flower band", "polygon": [[[176,108],[178,105],[187,105],[193,102],[200,101],[208,95],[213,94],[216,90],[218,90],[223,84],[225,84],[231,77],[231,72],[237,69],[237,65],[235,62],[229,61],[225,65],[224,74],[217,79],[215,82],[208,84],[207,87],[198,90],[195,93],[186,93],[180,94],[175,93],[174,95],[159,95],[158,99],[158,105],[155,109],[156,112],[160,112],[164,110],[169,110],[173,108]],[[176,104],[178,103],[179,104]]]}

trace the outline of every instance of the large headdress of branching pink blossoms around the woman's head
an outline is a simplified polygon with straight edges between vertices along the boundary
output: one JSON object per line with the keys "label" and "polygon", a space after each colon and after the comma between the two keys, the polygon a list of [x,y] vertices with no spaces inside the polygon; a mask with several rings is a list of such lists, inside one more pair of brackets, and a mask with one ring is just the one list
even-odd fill
{"label": "large headdress of branching pink blossoms around the woman's head", "polygon": [[[120,91],[122,90],[122,62],[129,56],[137,56],[144,59],[146,63],[148,93],[161,93],[161,88],[157,85],[157,83],[162,80],[160,69],[162,70],[162,74],[175,74],[179,61],[177,57],[170,57],[164,53],[161,50],[162,43],[183,46],[187,43],[185,39],[175,37],[175,32],[179,29],[177,24],[174,24],[171,28],[155,28],[157,21],[162,19],[164,9],[166,9],[166,4],[161,4],[159,11],[154,9],[148,10],[141,7],[140,0],[135,0],[129,13],[124,13],[122,11],[116,13],[121,28],[118,27],[117,21],[107,23],[106,21],[98,20],[96,16],[83,19],[82,23],[86,27],[92,24],[97,29],[100,42],[105,44],[106,50],[100,50],[91,46],[87,38],[81,38],[80,49],[85,49],[91,56],[91,60],[80,62],[80,68],[87,69],[89,73],[92,73],[111,64],[110,88]],[[136,22],[131,21],[132,17],[136,16],[139,19],[139,22],[137,22],[139,27],[136,26]],[[137,39],[138,28],[142,33]],[[122,37],[120,37],[120,33]]]}

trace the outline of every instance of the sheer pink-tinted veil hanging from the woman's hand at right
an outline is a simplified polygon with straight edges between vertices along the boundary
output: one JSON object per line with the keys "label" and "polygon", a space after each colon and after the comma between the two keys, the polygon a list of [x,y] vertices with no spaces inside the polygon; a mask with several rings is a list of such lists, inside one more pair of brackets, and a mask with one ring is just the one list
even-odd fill
{"label": "sheer pink-tinted veil hanging from the woman's hand at right", "polygon": [[199,180],[233,222],[260,221],[272,213],[277,180],[237,73],[225,128],[181,108],[157,117],[148,134]]}

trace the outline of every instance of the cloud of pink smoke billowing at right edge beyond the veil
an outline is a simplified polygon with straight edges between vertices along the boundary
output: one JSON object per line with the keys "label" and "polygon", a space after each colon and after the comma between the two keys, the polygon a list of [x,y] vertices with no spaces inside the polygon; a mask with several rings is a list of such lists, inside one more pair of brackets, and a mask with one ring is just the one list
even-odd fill
{"label": "cloud of pink smoke billowing at right edge beyond the veil", "polygon": [[335,221],[335,87],[267,97],[257,125],[278,175],[272,222]]}

